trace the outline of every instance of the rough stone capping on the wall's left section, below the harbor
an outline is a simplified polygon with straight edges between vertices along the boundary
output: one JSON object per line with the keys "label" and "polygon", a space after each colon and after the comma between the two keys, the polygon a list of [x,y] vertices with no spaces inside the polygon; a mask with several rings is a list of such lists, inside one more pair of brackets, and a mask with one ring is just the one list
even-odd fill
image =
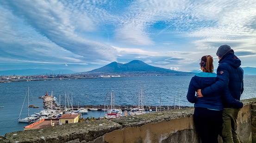
{"label": "rough stone capping on the wall's left section, below the harbor", "polygon": [[43,129],[6,133],[2,143],[44,143],[44,141],[46,143],[65,143],[77,138],[80,141],[89,142],[108,132],[121,128],[122,126],[111,120],[93,120]]}

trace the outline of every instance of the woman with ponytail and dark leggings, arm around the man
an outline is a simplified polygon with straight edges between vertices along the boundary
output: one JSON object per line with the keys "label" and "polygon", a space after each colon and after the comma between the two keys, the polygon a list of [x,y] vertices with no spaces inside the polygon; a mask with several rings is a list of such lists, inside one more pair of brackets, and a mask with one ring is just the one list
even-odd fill
{"label": "woman with ponytail and dark leggings, arm around the man", "polygon": [[200,61],[200,67],[203,72],[195,74],[191,79],[187,100],[194,103],[194,124],[201,138],[201,143],[218,143],[218,135],[223,124],[222,98],[234,108],[242,108],[243,103],[234,99],[228,88],[209,97],[198,98],[195,96],[195,92],[198,89],[204,89],[217,81],[217,74],[213,73],[212,56],[203,56]]}

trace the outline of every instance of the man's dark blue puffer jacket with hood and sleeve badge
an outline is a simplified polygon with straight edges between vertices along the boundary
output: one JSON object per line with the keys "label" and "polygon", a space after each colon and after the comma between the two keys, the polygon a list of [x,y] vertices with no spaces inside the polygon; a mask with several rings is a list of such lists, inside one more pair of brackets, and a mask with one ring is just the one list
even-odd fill
{"label": "man's dark blue puffer jacket with hood and sleeve badge", "polygon": [[[219,66],[217,69],[218,81],[212,84],[212,86],[202,88],[201,93],[203,96],[214,96],[215,92],[224,90],[227,87],[232,97],[240,100],[241,94],[244,91],[244,71],[240,67],[241,61],[234,55],[234,51],[231,49],[219,60]],[[224,108],[234,108],[228,103],[223,103]]]}

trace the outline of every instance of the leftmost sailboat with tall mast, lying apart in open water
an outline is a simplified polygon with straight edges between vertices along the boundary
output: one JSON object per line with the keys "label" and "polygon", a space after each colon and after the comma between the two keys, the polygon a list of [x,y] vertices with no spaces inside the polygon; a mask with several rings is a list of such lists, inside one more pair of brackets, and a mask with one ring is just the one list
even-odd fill
{"label": "leftmost sailboat with tall mast, lying apart in open water", "polygon": [[[23,106],[24,106],[24,103],[25,103],[25,99],[26,99],[26,96],[28,95],[28,116],[25,117],[24,119],[20,119],[20,114],[22,112],[22,109],[23,109]],[[21,108],[21,111],[20,111],[20,114],[19,114],[19,122],[25,122],[25,123],[33,123],[33,122],[36,122],[40,119],[40,115],[29,115],[29,87],[28,87],[28,90],[27,90],[27,93],[26,93],[26,96],[25,96],[25,99],[24,99],[24,102],[23,102],[23,105],[22,105],[22,108]]]}

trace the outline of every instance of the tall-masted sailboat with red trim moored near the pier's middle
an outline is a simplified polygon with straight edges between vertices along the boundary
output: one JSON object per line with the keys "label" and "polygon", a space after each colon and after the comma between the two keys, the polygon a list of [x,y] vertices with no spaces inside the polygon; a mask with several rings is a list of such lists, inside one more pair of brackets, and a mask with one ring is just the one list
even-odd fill
{"label": "tall-masted sailboat with red trim moored near the pier's middle", "polygon": [[115,109],[115,94],[114,91],[110,93],[111,95],[111,101],[110,106],[108,106],[106,118],[118,118],[122,117],[122,110],[121,109]]}

